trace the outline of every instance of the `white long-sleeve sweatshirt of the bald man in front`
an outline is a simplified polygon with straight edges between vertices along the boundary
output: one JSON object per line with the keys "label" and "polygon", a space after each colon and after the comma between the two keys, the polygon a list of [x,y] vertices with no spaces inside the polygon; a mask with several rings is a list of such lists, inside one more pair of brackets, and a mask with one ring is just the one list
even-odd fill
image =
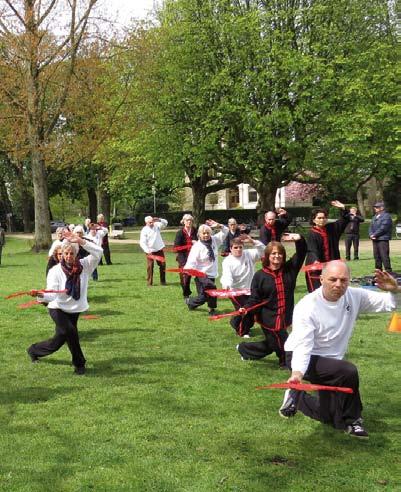
{"label": "white long-sleeve sweatshirt of the bald man in front", "polygon": [[293,352],[292,370],[305,374],[311,355],[342,359],[358,315],[393,311],[398,297],[355,287],[336,302],[323,297],[322,287],[306,295],[294,308],[292,332],[284,345]]}

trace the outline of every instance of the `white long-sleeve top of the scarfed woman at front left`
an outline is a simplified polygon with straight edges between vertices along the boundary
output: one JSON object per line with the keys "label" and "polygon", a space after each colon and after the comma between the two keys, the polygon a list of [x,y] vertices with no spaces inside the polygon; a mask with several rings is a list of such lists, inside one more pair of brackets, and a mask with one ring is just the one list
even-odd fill
{"label": "white long-sleeve top of the scarfed woman at front left", "polygon": [[[81,295],[79,299],[74,299],[68,294],[45,293],[43,294],[43,297],[38,297],[38,301],[48,302],[49,304],[47,307],[49,309],[61,309],[66,313],[82,313],[89,308],[87,299],[88,281],[91,273],[97,267],[103,255],[103,249],[97,244],[90,243],[89,241],[86,241],[82,247],[90,254],[79,260],[82,265],[82,272],[80,275]],[[46,290],[63,290],[65,289],[66,281],[67,276],[59,263],[51,268],[47,274]]]}

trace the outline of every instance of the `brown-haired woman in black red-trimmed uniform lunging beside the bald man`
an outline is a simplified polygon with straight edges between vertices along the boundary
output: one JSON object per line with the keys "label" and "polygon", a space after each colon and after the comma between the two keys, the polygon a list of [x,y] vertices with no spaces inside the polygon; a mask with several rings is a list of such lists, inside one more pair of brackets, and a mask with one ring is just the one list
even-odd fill
{"label": "brown-haired woman in black red-trimmed uniform lunging beside the bald man", "polygon": [[292,323],[295,285],[305,259],[306,241],[299,234],[283,235],[282,241],[295,241],[295,254],[286,261],[281,243],[273,241],[268,244],[262,260],[263,268],[252,279],[251,296],[245,305],[246,308],[268,301],[255,310],[255,319],[262,327],[265,340],[240,343],[237,350],[242,359],[262,359],[275,352],[280,366],[285,367],[284,342],[288,337],[287,328]]}

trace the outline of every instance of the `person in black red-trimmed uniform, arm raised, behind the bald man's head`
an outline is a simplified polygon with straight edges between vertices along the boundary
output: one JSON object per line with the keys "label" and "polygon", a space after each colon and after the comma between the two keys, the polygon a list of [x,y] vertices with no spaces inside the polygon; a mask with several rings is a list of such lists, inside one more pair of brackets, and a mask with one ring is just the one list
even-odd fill
{"label": "person in black red-trimmed uniform, arm raised, behind the bald man's head", "polygon": [[[340,237],[350,220],[350,215],[345,205],[338,200],[333,200],[331,205],[341,210],[341,216],[330,224],[327,223],[327,210],[319,208],[312,212],[312,227],[306,238],[308,252],[305,265],[327,263],[328,261],[340,259]],[[320,287],[321,273],[321,268],[306,272],[306,286],[309,292],[313,292]]]}

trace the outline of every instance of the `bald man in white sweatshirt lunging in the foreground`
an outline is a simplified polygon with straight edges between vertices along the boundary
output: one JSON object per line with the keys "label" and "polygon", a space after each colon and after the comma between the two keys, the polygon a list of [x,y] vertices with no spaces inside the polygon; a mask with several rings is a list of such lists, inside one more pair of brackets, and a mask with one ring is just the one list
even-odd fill
{"label": "bald man in white sweatshirt lunging in the foreground", "polygon": [[284,349],[292,371],[289,383],[305,379],[314,384],[350,387],[353,393],[320,391],[316,398],[304,391],[287,390],[279,413],[289,418],[300,410],[351,436],[367,438],[362,426],[358,369],[343,357],[358,315],[394,310],[394,294],[401,288],[390,274],[380,270],[376,270],[376,282],[387,292],[348,287],[349,279],[346,263],[334,260],[326,264],[321,287],[295,306],[292,333]]}

